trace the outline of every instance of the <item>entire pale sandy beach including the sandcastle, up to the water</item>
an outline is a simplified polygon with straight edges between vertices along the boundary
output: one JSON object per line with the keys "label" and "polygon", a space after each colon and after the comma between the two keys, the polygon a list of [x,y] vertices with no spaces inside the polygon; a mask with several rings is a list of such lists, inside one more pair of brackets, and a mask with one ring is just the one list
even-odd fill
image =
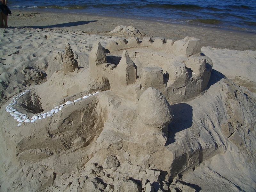
{"label": "entire pale sandy beach including the sandcastle, up to the water", "polygon": [[0,29],[1,191],[254,191],[255,34],[83,16]]}

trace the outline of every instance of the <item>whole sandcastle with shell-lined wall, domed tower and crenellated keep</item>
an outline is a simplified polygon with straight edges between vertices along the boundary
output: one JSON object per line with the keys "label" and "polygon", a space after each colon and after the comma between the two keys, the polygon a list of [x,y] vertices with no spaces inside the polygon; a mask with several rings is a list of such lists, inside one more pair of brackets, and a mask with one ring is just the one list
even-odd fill
{"label": "whole sandcastle with shell-lined wall, domed tower and crenellated keep", "polygon": [[[72,55],[70,49],[67,45],[66,52]],[[105,166],[109,156],[113,156],[111,158],[121,164],[118,163],[114,171],[119,165],[126,166],[127,162],[140,166],[156,164],[157,169],[168,172],[167,180],[173,179],[200,163],[196,159],[198,151],[207,152],[203,160],[218,153],[219,146],[213,138],[201,141],[204,147],[191,153],[190,148],[180,149],[178,154],[175,147],[172,150],[165,146],[168,125],[173,120],[170,104],[196,98],[207,87],[212,63],[200,52],[200,40],[191,37],[178,41],[121,38],[111,41],[105,48],[98,42],[89,54],[88,71],[92,85],[87,90],[80,89],[79,96],[69,95],[61,98],[56,107],[48,106],[38,113],[30,111],[26,114],[15,106],[22,107],[19,99],[24,96],[24,100],[30,100],[32,95],[29,94],[38,92],[31,88],[14,97],[6,106],[6,111],[19,122],[16,128],[22,129],[20,134],[10,132],[8,136],[12,140],[8,147],[13,151],[10,156],[17,156],[20,164],[41,162],[56,174],[89,163],[105,162]],[[78,67],[73,56],[67,58],[70,62],[64,62],[71,63],[72,68],[62,65],[62,70],[54,74],[56,79],[72,77],[76,73],[72,72]],[[51,85],[50,80],[47,85]],[[163,153],[168,159],[161,158]],[[196,160],[185,158],[176,166],[182,156],[195,156]],[[108,165],[104,168],[106,175],[114,177],[113,168]],[[155,174],[153,169],[147,168],[148,173]],[[146,180],[144,176],[138,179]],[[162,181],[157,177],[150,182]]]}

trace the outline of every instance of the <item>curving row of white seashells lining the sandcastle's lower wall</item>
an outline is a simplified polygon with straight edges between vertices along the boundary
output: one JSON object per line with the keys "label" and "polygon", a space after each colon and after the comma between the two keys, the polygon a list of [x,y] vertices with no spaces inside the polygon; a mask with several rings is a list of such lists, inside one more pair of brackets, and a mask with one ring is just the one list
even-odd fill
{"label": "curving row of white seashells lining the sandcastle's lower wall", "polygon": [[18,111],[17,109],[15,109],[14,106],[17,104],[18,99],[19,99],[20,97],[22,97],[23,95],[25,95],[26,93],[28,93],[28,92],[30,92],[30,91],[31,91],[30,89],[29,89],[29,90],[25,90],[24,92],[21,92],[20,94],[18,94],[17,96],[15,96],[15,97],[12,99],[11,103],[9,103],[9,105],[7,105],[7,107],[5,108],[5,110],[6,110],[7,112],[9,112],[10,115],[13,116],[14,119],[16,119],[16,120],[19,122],[18,126],[20,126],[20,125],[22,125],[22,124],[24,124],[24,123],[33,123],[33,122],[35,122],[35,121],[38,120],[38,119],[44,119],[44,118],[46,118],[46,117],[50,117],[50,116],[52,116],[53,114],[58,113],[58,112],[63,108],[63,106],[65,106],[65,105],[69,105],[69,104],[71,104],[71,103],[77,102],[77,101],[82,100],[82,99],[86,99],[86,98],[88,98],[88,97],[91,97],[91,96],[93,96],[93,95],[99,93],[99,91],[97,91],[97,92],[95,92],[95,93],[93,93],[93,94],[85,95],[83,98],[78,98],[78,99],[76,99],[76,100],[74,100],[74,101],[68,100],[66,103],[61,104],[60,106],[56,106],[56,107],[53,108],[51,111],[48,111],[48,112],[45,112],[45,113],[40,113],[39,115],[34,115],[34,116],[32,116],[31,118],[29,118],[28,115],[22,114],[20,111]]}

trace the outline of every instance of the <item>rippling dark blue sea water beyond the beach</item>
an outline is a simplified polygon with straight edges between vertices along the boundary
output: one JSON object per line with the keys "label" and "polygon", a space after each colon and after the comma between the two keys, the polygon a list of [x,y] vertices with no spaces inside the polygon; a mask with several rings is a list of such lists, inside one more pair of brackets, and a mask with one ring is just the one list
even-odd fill
{"label": "rippling dark blue sea water beyond the beach", "polygon": [[10,9],[92,13],[256,33],[256,0],[9,0]]}

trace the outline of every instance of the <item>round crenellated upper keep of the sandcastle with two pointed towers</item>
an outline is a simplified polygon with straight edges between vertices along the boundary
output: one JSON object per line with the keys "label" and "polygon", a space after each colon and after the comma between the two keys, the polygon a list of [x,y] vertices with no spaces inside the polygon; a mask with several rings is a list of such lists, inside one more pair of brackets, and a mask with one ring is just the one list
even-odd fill
{"label": "round crenellated upper keep of the sandcastle with two pointed towers", "polygon": [[200,53],[201,42],[192,37],[178,41],[121,38],[105,48],[100,43],[93,47],[90,72],[97,82],[109,82],[111,90],[124,97],[138,100],[148,87],[154,87],[173,104],[206,89],[212,62]]}

